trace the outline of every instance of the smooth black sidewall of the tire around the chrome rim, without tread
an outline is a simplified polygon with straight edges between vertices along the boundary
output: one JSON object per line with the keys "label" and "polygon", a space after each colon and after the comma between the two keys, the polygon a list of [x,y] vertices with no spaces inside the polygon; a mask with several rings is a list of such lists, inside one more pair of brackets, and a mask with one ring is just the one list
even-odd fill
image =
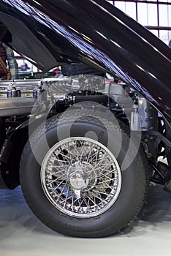
{"label": "smooth black sidewall of the tire around the chrome rim, without tread", "polygon": [[[58,126],[58,129],[61,129],[64,133],[64,130],[67,129],[67,125],[67,123],[61,124]],[[81,127],[83,129],[81,129]],[[78,135],[84,137],[85,132],[90,129],[96,132],[99,142],[107,146],[107,130],[96,124],[86,122],[75,123],[74,129],[72,129],[72,137],[77,137]],[[113,131],[113,134],[110,136],[110,140],[112,140],[110,141],[110,148],[108,148],[114,156],[118,154],[119,151],[117,157],[119,166],[121,166],[129,146],[129,139],[126,138],[122,140],[121,145],[120,132],[119,129]],[[56,127],[52,127],[47,131],[46,138],[50,148],[58,143]],[[111,145],[113,145],[113,147],[111,147]],[[43,160],[47,151],[44,150],[41,137],[34,143],[34,150],[39,151],[39,156],[41,156]],[[111,230],[119,230],[120,227],[123,226],[123,222],[128,222],[128,219],[132,219],[132,214],[135,209],[139,211],[140,200],[144,199],[145,184],[143,183],[145,183],[145,172],[140,158],[138,160],[139,170],[137,171],[136,159],[137,157],[135,157],[132,165],[121,172],[122,186],[118,199],[113,206],[97,217],[88,219],[70,217],[58,211],[58,209],[50,203],[42,189],[40,178],[41,167],[34,158],[31,148],[27,156],[27,161],[25,160],[25,170],[21,173],[23,193],[32,211],[34,211],[34,214],[50,228],[71,236],[104,236],[102,234],[107,236],[113,233]]]}

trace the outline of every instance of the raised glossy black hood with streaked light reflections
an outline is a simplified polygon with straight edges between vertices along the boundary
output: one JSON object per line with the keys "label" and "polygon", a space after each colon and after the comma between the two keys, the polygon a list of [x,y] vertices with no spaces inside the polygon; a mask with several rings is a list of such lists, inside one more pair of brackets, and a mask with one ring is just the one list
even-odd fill
{"label": "raised glossy black hood with streaked light reflections", "polygon": [[111,4],[9,0],[0,10],[6,41],[40,69],[83,62],[117,74],[171,122],[170,48]]}

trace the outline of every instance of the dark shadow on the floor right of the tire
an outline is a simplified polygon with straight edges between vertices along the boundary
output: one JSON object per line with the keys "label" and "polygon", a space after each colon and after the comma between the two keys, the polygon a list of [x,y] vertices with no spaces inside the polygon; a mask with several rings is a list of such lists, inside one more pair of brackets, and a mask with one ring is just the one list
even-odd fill
{"label": "dark shadow on the floor right of the tire", "polygon": [[151,184],[145,203],[137,217],[117,236],[142,236],[149,227],[155,229],[163,223],[171,227],[171,194],[162,186]]}

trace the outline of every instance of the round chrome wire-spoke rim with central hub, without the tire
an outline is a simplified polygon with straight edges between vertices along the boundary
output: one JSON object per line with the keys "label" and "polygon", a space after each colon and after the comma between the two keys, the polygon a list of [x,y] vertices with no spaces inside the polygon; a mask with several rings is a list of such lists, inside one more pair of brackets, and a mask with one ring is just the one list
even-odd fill
{"label": "round chrome wire-spoke rim with central hub, without the tire", "polygon": [[45,155],[41,183],[50,203],[72,217],[107,211],[121,191],[121,170],[111,151],[91,138],[67,138]]}

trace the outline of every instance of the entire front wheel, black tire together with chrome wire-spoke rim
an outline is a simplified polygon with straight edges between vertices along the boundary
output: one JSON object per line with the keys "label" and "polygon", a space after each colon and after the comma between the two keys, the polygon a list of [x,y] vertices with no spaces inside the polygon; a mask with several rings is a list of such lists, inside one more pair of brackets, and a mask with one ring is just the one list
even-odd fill
{"label": "entire front wheel, black tire together with chrome wire-spoke rim", "polygon": [[[60,122],[49,119],[48,148],[39,127],[21,159],[20,181],[28,205],[45,225],[69,236],[118,232],[140,211],[147,192],[148,164],[142,148],[121,170],[129,146],[127,128],[95,114],[92,118],[92,110],[71,110]],[[59,139],[60,132],[66,138]]]}

